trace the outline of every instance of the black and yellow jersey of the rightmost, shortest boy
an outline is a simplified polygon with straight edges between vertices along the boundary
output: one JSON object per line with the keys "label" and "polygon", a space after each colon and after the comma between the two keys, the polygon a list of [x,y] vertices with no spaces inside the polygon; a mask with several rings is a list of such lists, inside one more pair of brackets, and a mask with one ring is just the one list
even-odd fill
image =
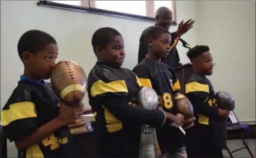
{"label": "black and yellow jersey of the rightmost, shortest boy", "polygon": [[218,107],[210,80],[194,73],[185,85],[185,95],[193,105],[196,121],[203,125],[214,125]]}

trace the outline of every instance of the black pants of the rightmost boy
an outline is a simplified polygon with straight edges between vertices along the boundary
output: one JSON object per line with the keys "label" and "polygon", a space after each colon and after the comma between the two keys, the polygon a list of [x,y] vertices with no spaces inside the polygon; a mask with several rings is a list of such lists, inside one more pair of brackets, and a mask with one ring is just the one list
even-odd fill
{"label": "black pants of the rightmost boy", "polygon": [[186,132],[188,157],[223,157],[217,137],[213,127],[195,124]]}

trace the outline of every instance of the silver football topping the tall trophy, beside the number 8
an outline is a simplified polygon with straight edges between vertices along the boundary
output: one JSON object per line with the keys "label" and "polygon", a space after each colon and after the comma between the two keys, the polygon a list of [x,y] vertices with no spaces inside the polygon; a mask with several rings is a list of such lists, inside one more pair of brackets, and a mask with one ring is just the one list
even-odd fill
{"label": "silver football topping the tall trophy, beside the number 8", "polygon": [[156,109],[158,107],[158,95],[155,90],[149,87],[140,89],[137,101],[141,107],[146,109]]}

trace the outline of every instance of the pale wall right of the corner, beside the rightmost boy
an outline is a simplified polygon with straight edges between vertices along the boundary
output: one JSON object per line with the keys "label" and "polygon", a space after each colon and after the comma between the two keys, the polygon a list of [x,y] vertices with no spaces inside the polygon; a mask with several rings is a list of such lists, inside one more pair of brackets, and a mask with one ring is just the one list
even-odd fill
{"label": "pale wall right of the corner, beside the rightmost boy", "polygon": [[240,121],[255,124],[255,1],[197,1],[197,43],[216,62],[215,91],[235,99]]}

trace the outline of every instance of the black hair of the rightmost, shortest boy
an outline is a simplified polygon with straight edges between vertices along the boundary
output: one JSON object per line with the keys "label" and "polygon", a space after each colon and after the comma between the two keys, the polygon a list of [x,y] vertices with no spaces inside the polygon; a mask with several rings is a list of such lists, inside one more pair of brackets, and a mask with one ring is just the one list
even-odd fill
{"label": "black hair of the rightmost, shortest boy", "polygon": [[210,48],[208,46],[197,45],[197,46],[193,47],[192,49],[188,50],[187,57],[188,57],[188,59],[192,60],[209,50],[210,50]]}

